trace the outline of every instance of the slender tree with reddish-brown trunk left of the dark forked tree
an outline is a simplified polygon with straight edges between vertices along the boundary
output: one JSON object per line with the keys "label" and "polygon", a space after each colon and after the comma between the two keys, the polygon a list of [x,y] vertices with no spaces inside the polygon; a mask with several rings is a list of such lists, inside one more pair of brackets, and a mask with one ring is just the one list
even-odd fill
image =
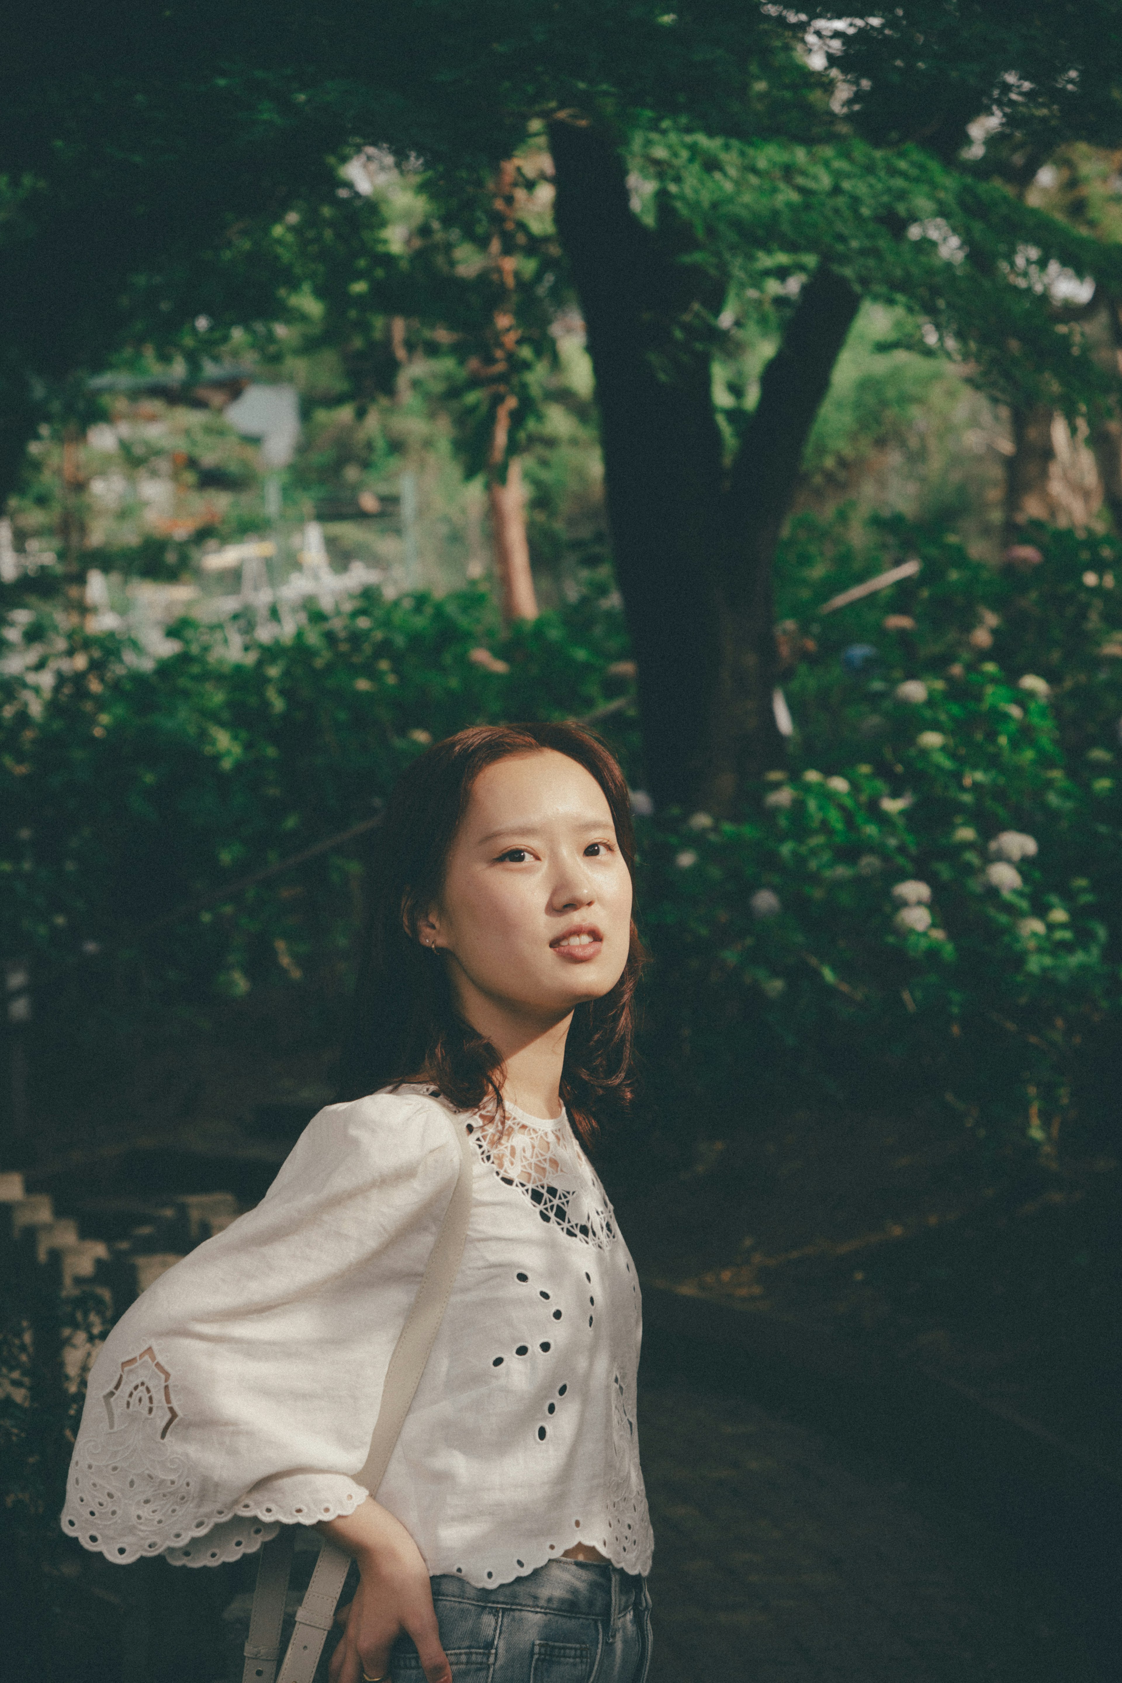
{"label": "slender tree with reddish-brown trunk left of the dark forked tree", "polygon": [[545,293],[560,252],[538,202],[543,165],[532,141],[449,195],[437,177],[402,175],[367,148],[347,165],[343,197],[311,197],[284,236],[294,283],[321,308],[315,338],[343,352],[360,404],[400,389],[410,350],[458,358],[447,399],[464,468],[486,478],[508,623],[538,611],[520,451],[555,360],[557,300]]}

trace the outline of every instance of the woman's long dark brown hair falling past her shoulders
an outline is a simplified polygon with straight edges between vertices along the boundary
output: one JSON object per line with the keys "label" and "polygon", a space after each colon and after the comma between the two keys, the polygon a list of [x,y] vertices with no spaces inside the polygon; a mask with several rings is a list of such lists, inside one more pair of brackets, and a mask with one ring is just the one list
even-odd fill
{"label": "woman's long dark brown hair falling past her shoulders", "polygon": [[[511,754],[543,749],[565,754],[595,778],[634,877],[631,796],[595,732],[575,724],[471,725],[426,749],[399,778],[375,842],[368,941],[340,1072],[341,1097],[422,1075],[463,1109],[488,1096],[501,1106],[503,1060],[456,1010],[444,963],[415,937],[417,917],[441,897],[447,855],[479,772]],[[582,1001],[574,1011],[560,1091],[585,1141],[595,1131],[601,1101],[611,1097],[624,1107],[631,1101],[632,1001],[643,959],[632,919],[622,976],[601,1000]]]}

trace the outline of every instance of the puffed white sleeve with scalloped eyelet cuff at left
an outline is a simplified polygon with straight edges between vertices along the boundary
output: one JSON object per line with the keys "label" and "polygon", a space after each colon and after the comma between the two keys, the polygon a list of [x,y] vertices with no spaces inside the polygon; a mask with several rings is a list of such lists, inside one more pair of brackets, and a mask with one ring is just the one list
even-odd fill
{"label": "puffed white sleeve with scalloped eyelet cuff at left", "polygon": [[217,1565],[362,1503],[353,1474],[458,1173],[434,1097],[320,1111],[262,1202],[109,1333],[62,1530],[121,1564]]}

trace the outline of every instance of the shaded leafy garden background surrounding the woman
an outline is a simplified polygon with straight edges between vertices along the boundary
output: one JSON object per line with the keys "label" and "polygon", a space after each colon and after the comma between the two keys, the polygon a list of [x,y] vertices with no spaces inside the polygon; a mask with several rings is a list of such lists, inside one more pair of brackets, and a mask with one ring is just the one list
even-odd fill
{"label": "shaded leafy garden background surrounding the woman", "polygon": [[402,767],[580,719],[653,1676],[1115,1675],[1114,7],[57,22],[0,71],[25,1670],[241,1676],[249,1564],[57,1535],[84,1375],[333,1099]]}

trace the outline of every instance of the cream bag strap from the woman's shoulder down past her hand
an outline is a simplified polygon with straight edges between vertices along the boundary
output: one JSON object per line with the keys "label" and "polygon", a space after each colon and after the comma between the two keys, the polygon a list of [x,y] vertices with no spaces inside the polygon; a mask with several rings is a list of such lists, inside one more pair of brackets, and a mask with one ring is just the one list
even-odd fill
{"label": "cream bag strap from the woman's shoulder down past her hand", "polygon": [[[378,1417],[370,1437],[370,1451],[362,1471],[355,1474],[357,1483],[365,1484],[372,1496],[377,1496],[385,1478],[385,1469],[417,1394],[417,1385],[429,1362],[436,1335],[441,1330],[444,1309],[453,1294],[459,1262],[464,1254],[468,1222],[471,1220],[471,1176],[476,1153],[468,1128],[454,1116],[449,1116],[449,1124],[459,1144],[459,1175],[447,1210],[444,1212],[441,1230],[436,1235],[429,1264],[421,1277],[417,1296],[394,1345],[394,1355],[390,1356],[382,1387]],[[283,1526],[279,1535],[261,1550],[249,1639],[244,1649],[246,1670],[242,1683],[274,1683],[276,1663],[281,1653],[281,1622],[284,1619],[294,1530],[294,1526]],[[296,1614],[296,1629],[293,1631],[293,1639],[288,1644],[284,1664],[276,1683],[313,1683],[326,1634],[335,1622],[335,1606],[343,1589],[350,1558],[335,1543],[328,1543],[326,1540],[321,1543],[320,1558]]]}

